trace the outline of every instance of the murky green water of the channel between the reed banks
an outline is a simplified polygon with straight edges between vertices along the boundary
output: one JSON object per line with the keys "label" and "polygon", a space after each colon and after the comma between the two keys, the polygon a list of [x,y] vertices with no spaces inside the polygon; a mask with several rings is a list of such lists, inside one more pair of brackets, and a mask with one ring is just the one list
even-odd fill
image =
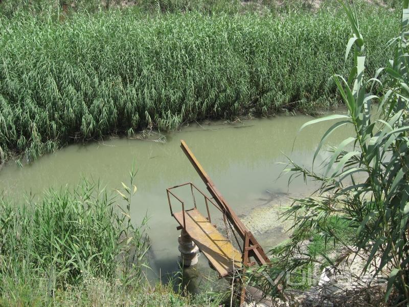
{"label": "murky green water of the channel between the reed banks", "polygon": [[[187,142],[224,198],[260,243],[269,247],[286,238],[285,227],[277,220],[280,206],[286,205],[289,197],[311,190],[302,180],[294,181],[289,188],[288,177],[277,180],[283,166],[276,164],[286,160],[284,153],[300,164],[311,164],[314,149],[329,124],[315,125],[298,134],[300,126],[310,119],[276,116],[234,124],[193,124],[166,134],[165,144],[112,139],[71,145],[21,169],[9,163],[0,171],[0,190],[14,198],[24,191],[40,195],[50,186],[73,186],[81,176],[100,178],[109,189],[119,188],[121,181],[127,182],[135,161],[138,192],[131,215],[135,223],[145,214],[150,217],[151,266],[154,275],[164,275],[178,268],[177,224],[170,215],[165,189],[191,181],[205,190],[181,151],[179,140]],[[331,141],[338,143],[351,133],[348,128],[338,129]],[[204,266],[207,262],[201,259],[200,263]]]}

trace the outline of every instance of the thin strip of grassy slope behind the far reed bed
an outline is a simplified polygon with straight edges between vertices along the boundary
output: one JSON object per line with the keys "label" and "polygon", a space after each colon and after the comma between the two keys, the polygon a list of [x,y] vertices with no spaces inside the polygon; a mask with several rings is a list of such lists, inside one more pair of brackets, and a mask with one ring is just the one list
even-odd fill
{"label": "thin strip of grassy slope behind the far reed bed", "polygon": [[[333,0],[3,0],[0,3],[0,14],[12,17],[20,11],[29,11],[34,15],[54,15],[65,18],[77,12],[96,13],[112,9],[132,8],[143,13],[180,13],[199,12],[206,15],[236,14],[255,12],[258,14],[282,14],[293,11],[311,12],[318,7],[336,9],[338,4]],[[387,8],[399,6],[396,0],[375,0],[371,4]]]}

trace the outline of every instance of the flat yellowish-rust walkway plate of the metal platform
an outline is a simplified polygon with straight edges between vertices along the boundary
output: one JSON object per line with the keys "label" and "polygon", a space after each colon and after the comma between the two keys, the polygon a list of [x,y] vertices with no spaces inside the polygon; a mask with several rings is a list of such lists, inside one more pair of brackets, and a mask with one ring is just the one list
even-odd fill
{"label": "flat yellowish-rust walkway plate of the metal platform", "polygon": [[208,258],[220,277],[241,268],[242,254],[196,208],[173,213],[180,226],[192,237],[199,250]]}

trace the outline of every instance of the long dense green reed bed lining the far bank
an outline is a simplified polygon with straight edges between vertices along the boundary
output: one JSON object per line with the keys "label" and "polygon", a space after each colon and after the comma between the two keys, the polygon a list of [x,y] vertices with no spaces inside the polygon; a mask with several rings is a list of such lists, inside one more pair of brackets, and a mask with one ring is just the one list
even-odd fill
{"label": "long dense green reed bed lining the far bank", "polygon": [[[365,6],[369,73],[385,63],[396,13]],[[27,161],[70,142],[186,121],[311,111],[346,74],[342,14],[78,13],[0,18],[0,147]],[[382,33],[382,35],[380,35]]]}

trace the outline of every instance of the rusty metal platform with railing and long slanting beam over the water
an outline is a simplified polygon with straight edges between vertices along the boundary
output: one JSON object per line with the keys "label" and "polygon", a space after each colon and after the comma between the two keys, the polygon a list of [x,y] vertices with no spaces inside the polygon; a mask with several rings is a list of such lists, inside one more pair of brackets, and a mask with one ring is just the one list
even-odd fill
{"label": "rusty metal platform with railing and long slanting beam over the water", "polygon": [[[219,277],[234,277],[235,273],[242,273],[248,267],[269,264],[268,257],[254,235],[244,226],[217,190],[186,142],[183,140],[180,142],[181,149],[185,152],[187,158],[205,183],[211,198],[191,182],[166,189],[171,215],[179,224],[177,229],[184,230],[191,236],[199,250],[208,258],[209,263],[219,273]],[[175,189],[186,186],[190,187],[194,204],[194,207],[189,209],[185,208],[185,202],[174,192]],[[195,193],[204,198],[207,216],[203,216],[198,211]],[[180,203],[181,211],[173,211],[171,202],[173,198]],[[209,205],[212,205],[221,212],[228,238],[217,230],[216,225],[212,225]],[[230,232],[233,234],[236,241],[235,245],[240,251],[232,244]],[[281,287],[278,287],[278,289],[280,290]],[[244,303],[244,298],[245,287],[241,284],[240,305]]]}

